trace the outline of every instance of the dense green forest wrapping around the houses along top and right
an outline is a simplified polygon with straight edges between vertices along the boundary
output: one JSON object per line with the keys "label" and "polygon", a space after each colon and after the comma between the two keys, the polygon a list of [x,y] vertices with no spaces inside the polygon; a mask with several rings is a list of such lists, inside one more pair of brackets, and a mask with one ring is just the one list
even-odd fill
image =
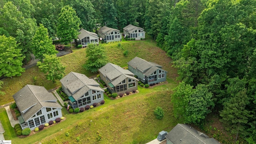
{"label": "dense green forest wrapping around the houses along top and right", "polygon": [[[219,115],[226,130],[255,144],[256,0],[1,0],[0,44],[15,38],[19,67],[30,59],[40,26],[54,40],[71,33],[68,19],[76,31],[145,28],[178,69],[174,116],[200,126],[209,113]],[[6,75],[4,67],[0,76],[23,71]]]}

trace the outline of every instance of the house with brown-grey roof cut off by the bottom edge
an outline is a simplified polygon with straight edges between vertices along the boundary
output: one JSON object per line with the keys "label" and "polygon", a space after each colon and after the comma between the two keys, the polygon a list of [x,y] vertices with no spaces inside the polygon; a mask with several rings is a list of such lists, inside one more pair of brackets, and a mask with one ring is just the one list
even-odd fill
{"label": "house with brown-grey roof cut off by the bottom edge", "polygon": [[165,137],[166,144],[220,144],[188,124],[177,124]]}

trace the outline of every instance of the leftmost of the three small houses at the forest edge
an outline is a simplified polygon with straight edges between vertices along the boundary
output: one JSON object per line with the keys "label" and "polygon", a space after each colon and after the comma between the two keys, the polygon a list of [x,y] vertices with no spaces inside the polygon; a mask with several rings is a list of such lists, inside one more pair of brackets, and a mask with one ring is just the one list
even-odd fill
{"label": "leftmost of the three small houses at the forest edge", "polygon": [[98,34],[94,32],[89,32],[87,30],[84,30],[83,28],[79,30],[78,34],[78,44],[82,44],[83,47],[87,46],[90,43],[93,44],[99,44],[99,37]]}

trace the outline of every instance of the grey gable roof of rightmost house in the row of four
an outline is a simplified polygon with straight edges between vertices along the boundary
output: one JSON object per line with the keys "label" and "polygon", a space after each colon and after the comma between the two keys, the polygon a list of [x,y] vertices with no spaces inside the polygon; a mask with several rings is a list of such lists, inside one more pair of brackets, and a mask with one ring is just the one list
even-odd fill
{"label": "grey gable roof of rightmost house in the row of four", "polygon": [[[128,62],[128,65],[140,70],[146,76],[150,76],[153,72],[155,72],[158,69],[163,70],[162,66],[160,66],[159,64],[156,64],[154,62],[148,62],[137,56],[132,60],[130,60]],[[167,72],[166,70],[163,70],[163,71]]]}

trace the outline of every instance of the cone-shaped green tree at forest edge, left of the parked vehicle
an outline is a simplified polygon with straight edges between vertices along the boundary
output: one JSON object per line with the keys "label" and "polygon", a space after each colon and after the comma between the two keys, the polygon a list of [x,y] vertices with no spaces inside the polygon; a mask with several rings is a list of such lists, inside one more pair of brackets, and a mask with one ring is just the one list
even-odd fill
{"label": "cone-shaped green tree at forest edge, left of the parked vehicle", "polygon": [[55,50],[55,46],[52,44],[51,38],[48,36],[47,28],[44,28],[42,24],[40,24],[38,30],[36,30],[31,46],[36,59],[41,61],[44,59],[44,54],[52,55],[58,53]]}

